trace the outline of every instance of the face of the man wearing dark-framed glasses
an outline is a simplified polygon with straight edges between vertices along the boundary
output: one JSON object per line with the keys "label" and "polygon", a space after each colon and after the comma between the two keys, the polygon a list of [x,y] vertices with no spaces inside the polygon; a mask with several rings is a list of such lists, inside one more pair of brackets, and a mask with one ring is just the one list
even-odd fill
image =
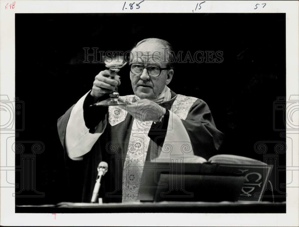
{"label": "face of the man wearing dark-framed glasses", "polygon": [[[161,44],[144,42],[132,51],[132,63],[144,65],[156,65],[166,68],[167,62],[164,58],[164,50]],[[163,92],[165,85],[169,84],[173,75],[173,70],[161,70],[158,77],[150,76],[144,68],[140,74],[130,71],[132,88],[139,98],[156,99]]]}

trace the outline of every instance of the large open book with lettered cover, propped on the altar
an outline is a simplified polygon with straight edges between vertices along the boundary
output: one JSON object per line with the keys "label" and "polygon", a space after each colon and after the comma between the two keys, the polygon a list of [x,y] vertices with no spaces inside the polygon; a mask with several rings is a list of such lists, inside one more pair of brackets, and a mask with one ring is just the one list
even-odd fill
{"label": "large open book with lettered cover, propped on the altar", "polygon": [[[175,159],[180,158],[163,157],[152,160],[152,162],[157,164],[170,163]],[[260,202],[272,170],[272,165],[267,165],[259,160],[228,154],[215,155],[208,160],[199,156],[184,156],[181,157],[179,162],[183,162],[186,166],[185,172],[188,172],[191,168],[194,169],[195,165],[196,172],[201,175],[243,176],[244,183],[239,201]]]}

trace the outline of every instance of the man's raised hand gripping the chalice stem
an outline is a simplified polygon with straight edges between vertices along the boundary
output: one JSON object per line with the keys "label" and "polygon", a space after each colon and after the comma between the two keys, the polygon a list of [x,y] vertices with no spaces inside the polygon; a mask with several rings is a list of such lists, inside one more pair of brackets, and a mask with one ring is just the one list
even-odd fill
{"label": "man's raised hand gripping the chalice stem", "polygon": [[90,95],[94,98],[94,103],[105,94],[115,91],[116,86],[120,85],[120,76],[108,69],[100,71],[94,78]]}

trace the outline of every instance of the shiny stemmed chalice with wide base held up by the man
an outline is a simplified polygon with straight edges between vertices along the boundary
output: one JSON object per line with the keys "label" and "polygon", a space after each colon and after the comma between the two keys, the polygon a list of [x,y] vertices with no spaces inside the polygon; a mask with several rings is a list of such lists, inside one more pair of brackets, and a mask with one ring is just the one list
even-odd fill
{"label": "shiny stemmed chalice with wide base held up by the man", "polygon": [[[105,57],[104,60],[105,66],[109,68],[110,71],[115,73],[119,72],[123,66],[126,65],[126,61],[123,56],[115,56],[111,58]],[[109,78],[114,79],[114,76],[110,76]],[[118,87],[116,86],[115,91],[109,94],[109,98],[103,101],[99,101],[94,103],[91,106],[119,106],[125,105],[125,102],[119,98]]]}

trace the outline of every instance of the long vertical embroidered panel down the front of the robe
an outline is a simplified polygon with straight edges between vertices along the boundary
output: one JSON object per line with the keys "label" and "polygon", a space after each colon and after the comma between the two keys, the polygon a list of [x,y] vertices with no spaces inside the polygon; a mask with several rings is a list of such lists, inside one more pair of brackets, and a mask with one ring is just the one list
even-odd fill
{"label": "long vertical embroidered panel down the front of the robe", "polygon": [[134,119],[130,142],[123,167],[122,202],[137,201],[138,185],[143,180],[143,167],[147,156],[150,138],[147,136],[152,121],[141,122]]}

